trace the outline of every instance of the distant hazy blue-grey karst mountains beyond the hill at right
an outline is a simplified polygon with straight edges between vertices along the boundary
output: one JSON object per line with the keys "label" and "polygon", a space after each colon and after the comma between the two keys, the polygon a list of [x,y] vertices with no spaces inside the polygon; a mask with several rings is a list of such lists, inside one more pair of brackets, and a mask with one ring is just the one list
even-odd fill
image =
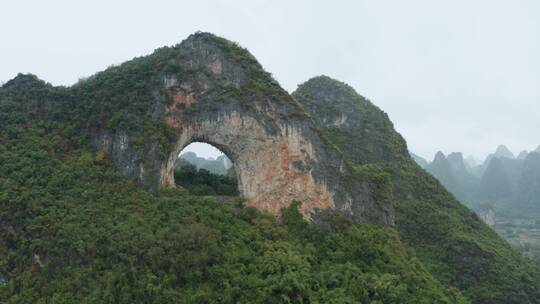
{"label": "distant hazy blue-grey karst mountains beyond the hill at right", "polygon": [[461,152],[437,152],[431,163],[411,156],[472,209],[495,210],[503,218],[540,216],[540,146],[516,157],[501,145],[483,162]]}

